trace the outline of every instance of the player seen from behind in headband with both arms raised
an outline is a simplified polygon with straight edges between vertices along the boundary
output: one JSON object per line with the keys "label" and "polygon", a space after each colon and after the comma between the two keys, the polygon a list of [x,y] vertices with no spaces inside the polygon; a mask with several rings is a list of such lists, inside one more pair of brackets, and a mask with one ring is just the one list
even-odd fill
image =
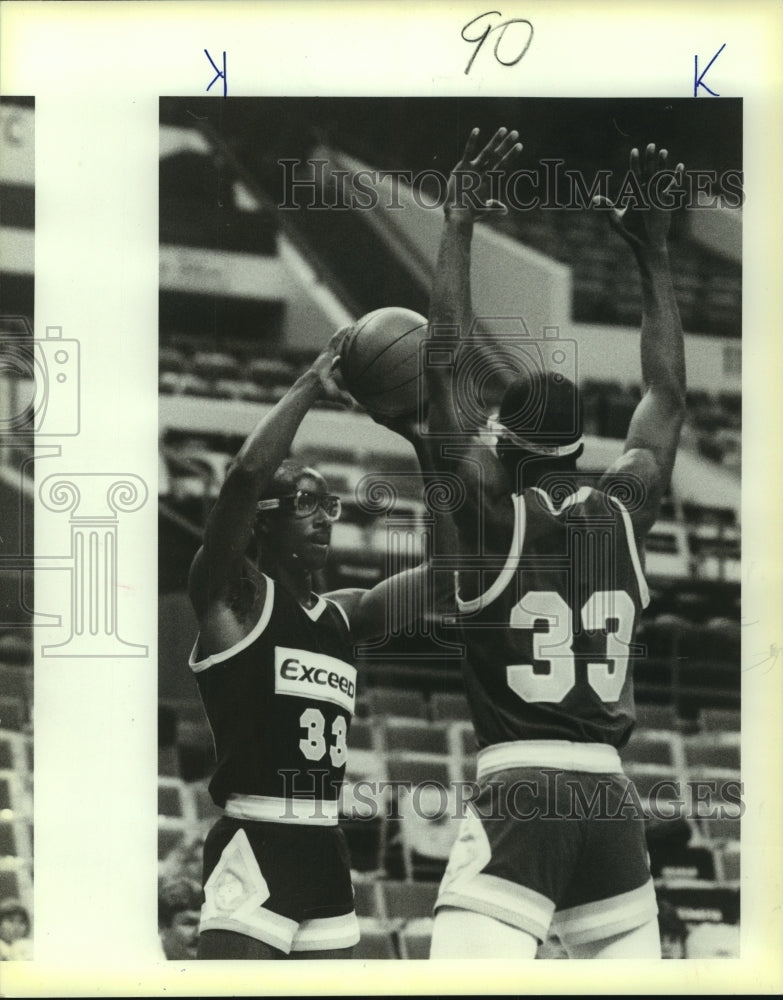
{"label": "player seen from behind in headband with both arms raised", "polygon": [[[470,351],[470,245],[482,214],[480,199],[459,192],[486,202],[487,172],[512,162],[516,138],[503,129],[479,149],[474,132],[449,183],[430,325],[439,355],[451,352],[457,366]],[[666,160],[653,145],[631,152],[643,191]],[[617,751],[634,724],[628,656],[649,599],[644,539],[683,421],[683,337],[669,213],[608,207],[641,275],[645,392],[598,489],[576,488],[581,431],[570,380],[539,371],[514,381],[488,441],[486,428],[471,437],[465,426],[454,367],[426,369],[429,469],[456,472],[466,487],[452,515],[455,617],[479,746],[479,797],[440,887],[433,958],[532,958],[550,925],[572,958],[660,955],[643,819],[618,811],[629,782]]]}

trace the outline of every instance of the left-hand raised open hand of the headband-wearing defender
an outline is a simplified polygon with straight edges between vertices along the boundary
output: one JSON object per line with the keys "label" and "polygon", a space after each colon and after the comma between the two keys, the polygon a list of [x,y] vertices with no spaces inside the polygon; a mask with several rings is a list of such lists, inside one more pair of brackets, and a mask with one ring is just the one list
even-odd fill
{"label": "left-hand raised open hand of the headband-wearing defender", "polygon": [[446,188],[444,210],[449,217],[481,219],[489,212],[505,215],[506,206],[492,198],[492,177],[507,170],[522,151],[519,133],[499,128],[479,149],[479,130],[470,133],[462,159],[454,167]]}

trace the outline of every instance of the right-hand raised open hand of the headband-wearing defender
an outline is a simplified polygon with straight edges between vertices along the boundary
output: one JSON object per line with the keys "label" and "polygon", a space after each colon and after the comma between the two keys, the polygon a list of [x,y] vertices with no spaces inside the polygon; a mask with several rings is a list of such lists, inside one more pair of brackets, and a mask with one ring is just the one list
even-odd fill
{"label": "right-hand raised open hand of the headband-wearing defender", "polygon": [[673,170],[667,169],[668,157],[668,150],[656,150],[652,142],[646,147],[644,156],[638,149],[631,150],[631,173],[642,192],[643,206],[633,195],[629,195],[623,205],[601,195],[593,198],[593,207],[608,211],[610,225],[634,250],[663,249],[666,246],[672,208],[677,204],[674,195],[682,191],[685,170],[682,163],[678,163]]}

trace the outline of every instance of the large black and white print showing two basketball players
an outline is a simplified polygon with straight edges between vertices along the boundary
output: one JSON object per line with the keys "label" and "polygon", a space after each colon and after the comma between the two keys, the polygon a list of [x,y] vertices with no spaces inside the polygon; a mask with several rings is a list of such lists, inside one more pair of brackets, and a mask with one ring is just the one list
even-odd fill
{"label": "large black and white print showing two basketball players", "polygon": [[739,956],[742,183],[741,101],[162,99],[168,957]]}

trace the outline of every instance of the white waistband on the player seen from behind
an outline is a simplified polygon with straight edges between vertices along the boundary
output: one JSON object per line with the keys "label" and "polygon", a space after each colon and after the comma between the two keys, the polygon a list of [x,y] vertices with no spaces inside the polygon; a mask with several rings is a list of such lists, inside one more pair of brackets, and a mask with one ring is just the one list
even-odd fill
{"label": "white waistband on the player seen from behind", "polygon": [[607,743],[571,743],[569,740],[514,740],[479,750],[477,780],[515,767],[557,767],[564,771],[622,774],[620,755]]}

